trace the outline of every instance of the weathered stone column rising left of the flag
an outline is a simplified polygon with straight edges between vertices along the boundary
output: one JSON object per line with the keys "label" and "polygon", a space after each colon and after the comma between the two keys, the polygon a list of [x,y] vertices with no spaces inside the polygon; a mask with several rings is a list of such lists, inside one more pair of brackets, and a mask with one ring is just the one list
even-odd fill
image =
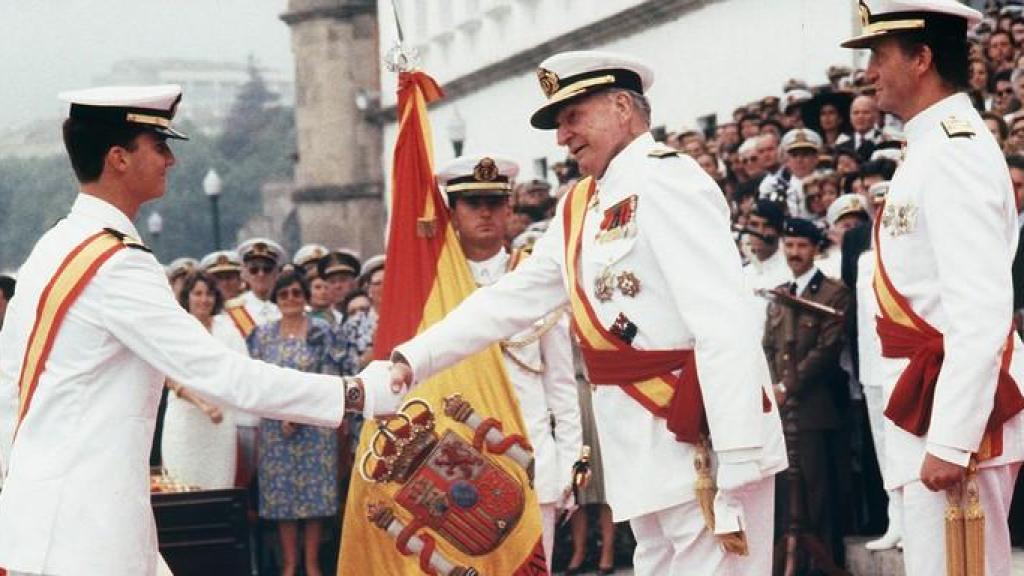
{"label": "weathered stone column rising left of the flag", "polygon": [[298,164],[292,199],[302,242],[383,251],[381,127],[355,107],[380,91],[376,0],[290,0]]}

